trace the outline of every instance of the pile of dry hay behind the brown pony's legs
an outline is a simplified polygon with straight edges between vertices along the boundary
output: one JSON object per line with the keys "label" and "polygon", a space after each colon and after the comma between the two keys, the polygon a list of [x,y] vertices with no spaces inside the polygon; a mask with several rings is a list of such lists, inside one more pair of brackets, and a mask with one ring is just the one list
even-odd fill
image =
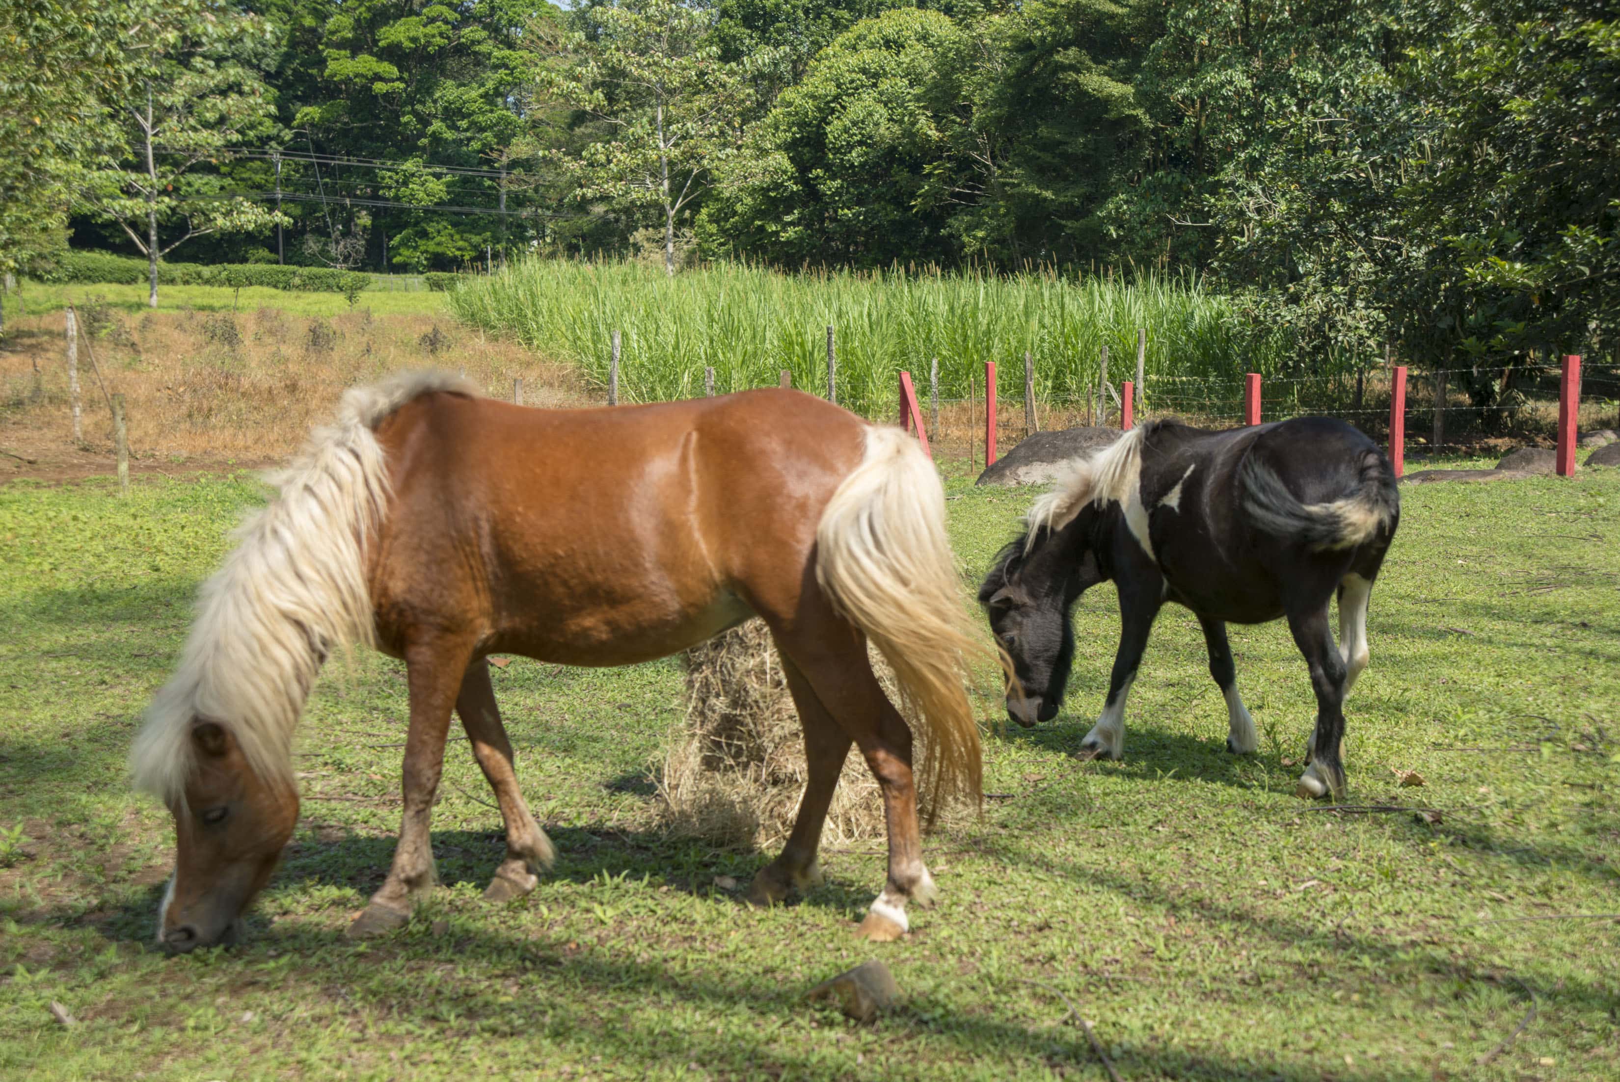
{"label": "pile of dry hay behind the brown pony's legs", "polygon": [[[792,831],[807,781],[804,735],[781,659],[763,620],[748,620],[684,654],[687,716],[671,735],[659,813],[674,834],[726,847],[778,846]],[[872,653],[889,701],[894,674]],[[912,726],[917,760],[927,732]],[[919,784],[925,771],[919,769]],[[854,747],[844,758],[823,841],[883,837],[883,800]]]}

